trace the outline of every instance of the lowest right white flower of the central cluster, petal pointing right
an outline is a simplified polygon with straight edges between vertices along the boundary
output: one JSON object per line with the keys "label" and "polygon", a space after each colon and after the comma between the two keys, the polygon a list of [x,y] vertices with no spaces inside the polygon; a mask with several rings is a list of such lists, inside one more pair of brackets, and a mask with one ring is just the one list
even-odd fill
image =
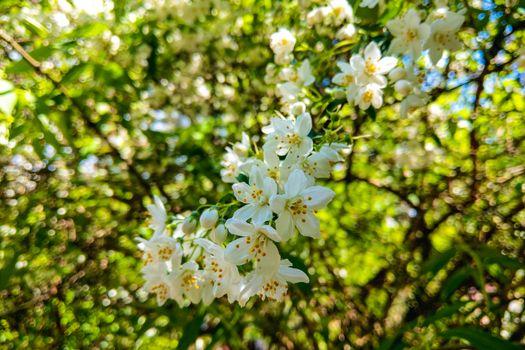
{"label": "lowest right white flower of the central cluster, petal pointing right", "polygon": [[281,260],[279,251],[273,245],[268,249],[268,255],[244,282],[239,304],[244,306],[253,295],[258,294],[261,299],[283,300],[288,292],[288,282],[308,283],[308,276],[301,270],[295,269],[289,260]]}

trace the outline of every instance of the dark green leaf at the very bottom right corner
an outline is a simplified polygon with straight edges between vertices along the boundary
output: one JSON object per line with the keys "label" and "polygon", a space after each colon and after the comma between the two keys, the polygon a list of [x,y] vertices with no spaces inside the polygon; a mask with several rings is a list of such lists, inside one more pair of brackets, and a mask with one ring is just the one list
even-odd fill
{"label": "dark green leaf at the very bottom right corner", "polygon": [[487,332],[484,332],[476,328],[470,328],[470,327],[454,328],[454,329],[445,331],[441,333],[440,335],[445,339],[460,338],[460,339],[466,340],[470,343],[470,345],[472,345],[473,347],[479,350],[486,350],[486,349],[521,350],[522,349],[522,347],[517,344],[513,344],[509,341],[498,338],[496,336],[493,336],[492,334],[489,334]]}

